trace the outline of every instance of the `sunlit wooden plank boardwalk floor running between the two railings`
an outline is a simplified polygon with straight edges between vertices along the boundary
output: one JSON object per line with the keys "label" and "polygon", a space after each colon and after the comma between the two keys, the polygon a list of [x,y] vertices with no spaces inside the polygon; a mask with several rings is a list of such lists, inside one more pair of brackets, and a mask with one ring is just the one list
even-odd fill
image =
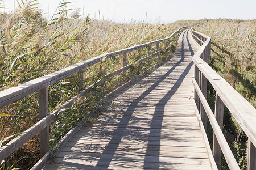
{"label": "sunlit wooden plank boardwalk floor running between the two railings", "polygon": [[44,169],[211,169],[193,96],[189,31],[175,57],[114,97],[98,124],[82,127]]}

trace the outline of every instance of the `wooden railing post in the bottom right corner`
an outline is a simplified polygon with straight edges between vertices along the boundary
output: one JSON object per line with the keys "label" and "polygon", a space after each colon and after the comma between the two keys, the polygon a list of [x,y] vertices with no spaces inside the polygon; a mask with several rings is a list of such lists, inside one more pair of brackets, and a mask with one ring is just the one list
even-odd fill
{"label": "wooden railing post in the bottom right corner", "polygon": [[248,139],[247,170],[256,169],[256,148]]}

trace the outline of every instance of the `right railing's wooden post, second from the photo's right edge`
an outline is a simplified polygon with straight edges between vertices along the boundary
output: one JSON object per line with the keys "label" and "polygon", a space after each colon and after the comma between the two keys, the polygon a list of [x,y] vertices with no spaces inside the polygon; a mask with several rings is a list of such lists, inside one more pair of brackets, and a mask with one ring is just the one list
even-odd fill
{"label": "right railing's wooden post, second from the photo's right edge", "polygon": [[[223,115],[224,115],[224,103],[220,99],[220,96],[216,94],[216,100],[215,100],[215,118],[218,122],[218,125],[220,126],[220,129],[222,130],[223,127]],[[213,133],[213,158],[216,162],[217,168],[221,169],[221,148],[218,144],[216,135]]]}

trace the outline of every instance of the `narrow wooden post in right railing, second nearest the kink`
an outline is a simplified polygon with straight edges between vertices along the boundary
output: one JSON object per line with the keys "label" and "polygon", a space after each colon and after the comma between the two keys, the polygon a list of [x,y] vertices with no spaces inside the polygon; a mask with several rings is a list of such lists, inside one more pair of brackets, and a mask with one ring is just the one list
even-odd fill
{"label": "narrow wooden post in right railing, second nearest the kink", "polygon": [[[204,74],[201,73],[201,91],[207,100],[207,78],[205,78]],[[200,107],[200,115],[201,115],[201,120],[204,125],[204,129],[207,130],[207,114],[205,112],[205,109],[203,107],[203,104],[201,103]]]}

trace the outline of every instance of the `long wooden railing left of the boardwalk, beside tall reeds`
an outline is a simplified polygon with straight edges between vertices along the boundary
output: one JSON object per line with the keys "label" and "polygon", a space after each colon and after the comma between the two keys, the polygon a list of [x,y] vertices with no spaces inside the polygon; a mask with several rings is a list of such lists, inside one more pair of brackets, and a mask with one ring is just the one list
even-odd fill
{"label": "long wooden railing left of the boardwalk, beside tall reeds", "polygon": [[[182,27],[185,28],[185,27]],[[38,103],[39,103],[39,121],[36,122],[31,128],[24,131],[22,134],[18,135],[18,137],[14,138],[12,141],[7,143],[5,146],[0,148],[0,162],[7,158],[10,154],[12,154],[15,150],[17,150],[20,146],[22,146],[25,142],[29,139],[34,137],[36,134],[40,133],[40,156],[43,157],[49,150],[49,124],[56,119],[57,114],[63,114],[67,108],[71,107],[75,99],[85,96],[88,94],[90,90],[92,90],[93,84],[86,88],[85,90],[81,91],[79,95],[76,95],[71,100],[63,105],[63,107],[59,110],[55,110],[52,113],[48,113],[48,87],[56,83],[68,76],[71,76],[75,73],[82,73],[86,67],[92,66],[102,59],[107,59],[112,56],[117,56],[123,54],[123,67],[121,69],[115,70],[113,73],[105,75],[104,79],[100,80],[97,83],[103,83],[106,79],[126,71],[134,63],[127,65],[127,53],[132,52],[134,50],[139,50],[141,48],[148,48],[148,56],[145,58],[139,59],[137,62],[143,62],[147,59],[152,58],[153,56],[159,55],[159,43],[163,41],[169,41],[174,35],[180,33],[181,29],[178,29],[170,37],[165,39],[156,40],[147,42],[146,44],[132,46],[130,48],[118,50],[112,53],[102,54],[100,56],[94,57],[92,59],[88,59],[84,62],[77,63],[75,65],[69,66],[65,69],[56,71],[55,73],[42,76],[40,78],[36,78],[31,80],[30,82],[20,84],[18,86],[9,88],[7,90],[0,92],[0,107],[4,107],[5,105],[11,104],[14,101],[21,99],[27,95],[33,94],[34,92],[38,91]],[[151,45],[156,44],[156,52],[151,54]],[[82,76],[84,78],[84,76]]]}

